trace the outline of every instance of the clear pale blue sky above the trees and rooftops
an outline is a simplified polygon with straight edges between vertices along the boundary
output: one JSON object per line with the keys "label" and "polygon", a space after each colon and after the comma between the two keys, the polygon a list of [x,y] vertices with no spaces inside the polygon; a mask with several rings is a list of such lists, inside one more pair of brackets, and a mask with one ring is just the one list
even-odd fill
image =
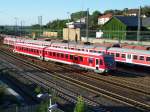
{"label": "clear pale blue sky above the trees and rooftops", "polygon": [[0,25],[31,25],[43,17],[43,24],[50,20],[68,18],[68,14],[90,9],[101,12],[108,9],[138,8],[150,5],[150,0],[0,0]]}

